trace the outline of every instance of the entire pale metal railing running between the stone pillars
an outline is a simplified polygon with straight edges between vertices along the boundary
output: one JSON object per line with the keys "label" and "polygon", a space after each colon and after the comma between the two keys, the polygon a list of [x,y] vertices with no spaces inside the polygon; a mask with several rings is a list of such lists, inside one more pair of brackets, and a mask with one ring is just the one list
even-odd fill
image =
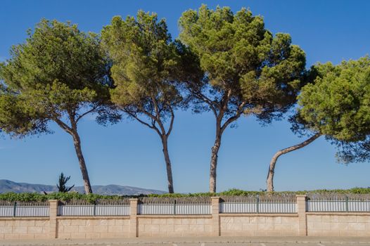
{"label": "entire pale metal railing running between the stone pillars", "polygon": [[[210,198],[139,198],[138,214],[212,214]],[[224,196],[220,213],[293,214],[298,205],[295,196]],[[307,196],[307,212],[370,212],[370,195]],[[128,199],[98,200],[94,204],[72,200],[59,202],[58,216],[129,216]],[[0,217],[49,216],[49,202],[0,201]]]}

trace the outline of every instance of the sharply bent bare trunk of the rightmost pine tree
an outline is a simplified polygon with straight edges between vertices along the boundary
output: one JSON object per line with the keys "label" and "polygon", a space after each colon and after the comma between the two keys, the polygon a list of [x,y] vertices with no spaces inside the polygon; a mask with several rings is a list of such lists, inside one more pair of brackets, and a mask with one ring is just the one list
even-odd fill
{"label": "sharply bent bare trunk of the rightmost pine tree", "polygon": [[286,153],[292,152],[293,150],[298,150],[300,148],[305,147],[306,145],[309,145],[315,139],[319,138],[319,136],[321,136],[321,135],[320,134],[314,134],[314,136],[308,138],[306,141],[303,141],[302,143],[298,143],[297,145],[293,145],[291,147],[284,148],[284,149],[279,150],[278,152],[276,152],[276,154],[272,157],[272,160],[271,160],[270,166],[269,166],[269,172],[267,174],[267,181],[266,181],[267,191],[269,191],[269,192],[274,191],[274,172],[275,172],[275,165],[276,165],[276,162],[277,162],[278,158],[281,155],[284,155]]}

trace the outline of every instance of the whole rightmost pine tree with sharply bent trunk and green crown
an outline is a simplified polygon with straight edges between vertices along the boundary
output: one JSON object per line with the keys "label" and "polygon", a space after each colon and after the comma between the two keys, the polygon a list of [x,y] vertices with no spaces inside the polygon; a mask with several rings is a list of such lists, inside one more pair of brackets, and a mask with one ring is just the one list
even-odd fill
{"label": "whole rightmost pine tree with sharply bent trunk and green crown", "polygon": [[291,118],[293,132],[310,138],[279,150],[272,158],[267,190],[274,190],[274,169],[279,156],[312,143],[319,136],[338,147],[338,161],[370,157],[370,58],[312,67],[312,83],[298,96],[298,112]]}

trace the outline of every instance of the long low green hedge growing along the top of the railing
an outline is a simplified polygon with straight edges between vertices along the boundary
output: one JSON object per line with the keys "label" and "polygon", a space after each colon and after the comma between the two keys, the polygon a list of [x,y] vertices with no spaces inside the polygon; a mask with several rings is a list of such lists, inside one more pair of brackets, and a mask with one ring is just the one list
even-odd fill
{"label": "long low green hedge growing along the top of the railing", "polygon": [[[347,190],[301,190],[301,191],[279,191],[274,192],[274,195],[303,195],[303,194],[370,194],[370,188],[352,188]],[[217,195],[266,195],[266,191],[248,191],[231,189],[222,191],[220,193],[174,193],[174,194],[162,194],[162,195],[139,195],[139,196],[127,196],[127,195],[97,195],[97,194],[80,194],[80,193],[50,193],[48,195],[42,195],[39,193],[1,193],[0,200],[8,202],[44,202],[46,200],[86,200],[88,202],[94,202],[98,199],[112,199],[119,200],[122,198],[138,198],[138,197],[157,197],[157,198],[183,198],[183,197],[210,197]],[[271,194],[271,193],[270,193]]]}

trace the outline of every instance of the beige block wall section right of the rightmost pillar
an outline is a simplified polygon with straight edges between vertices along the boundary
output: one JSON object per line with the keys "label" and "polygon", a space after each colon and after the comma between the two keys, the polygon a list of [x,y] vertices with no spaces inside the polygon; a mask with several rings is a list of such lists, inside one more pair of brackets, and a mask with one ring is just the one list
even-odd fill
{"label": "beige block wall section right of the rightmost pillar", "polygon": [[370,213],[307,213],[307,235],[370,236]]}

